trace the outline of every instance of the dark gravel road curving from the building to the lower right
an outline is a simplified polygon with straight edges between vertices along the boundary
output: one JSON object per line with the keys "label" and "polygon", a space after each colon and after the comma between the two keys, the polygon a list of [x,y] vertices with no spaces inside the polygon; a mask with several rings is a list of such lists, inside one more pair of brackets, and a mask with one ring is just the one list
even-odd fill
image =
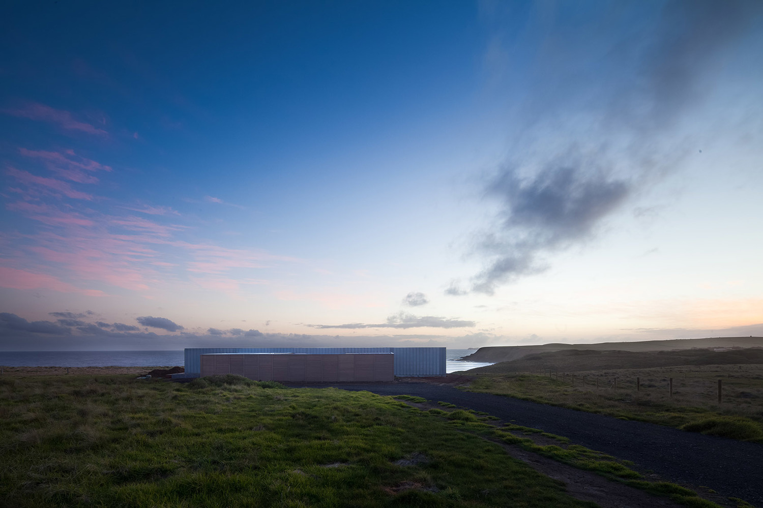
{"label": "dark gravel road curving from the building to the lower right", "polygon": [[[296,386],[296,385],[293,385]],[[309,384],[381,395],[416,395],[485,411],[501,420],[542,429],[575,444],[633,461],[639,471],[663,480],[709,487],[724,497],[740,497],[763,506],[763,445],[683,432],[652,423],[617,420],[564,407],[536,404],[501,395],[475,394],[425,383]]]}

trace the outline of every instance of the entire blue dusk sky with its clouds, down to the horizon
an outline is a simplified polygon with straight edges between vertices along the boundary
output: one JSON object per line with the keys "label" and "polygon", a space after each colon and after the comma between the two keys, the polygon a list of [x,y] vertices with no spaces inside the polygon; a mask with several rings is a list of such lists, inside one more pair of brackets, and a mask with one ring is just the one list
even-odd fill
{"label": "entire blue dusk sky with its clouds, down to the horizon", "polygon": [[0,350],[763,336],[758,0],[0,9]]}

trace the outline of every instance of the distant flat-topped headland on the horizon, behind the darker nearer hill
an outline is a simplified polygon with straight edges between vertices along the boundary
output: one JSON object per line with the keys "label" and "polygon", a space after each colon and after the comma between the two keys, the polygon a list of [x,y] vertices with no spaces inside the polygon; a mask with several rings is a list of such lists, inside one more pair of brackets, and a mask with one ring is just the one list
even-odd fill
{"label": "distant flat-topped headland on the horizon, behind the darker nearer hill", "polygon": [[645,340],[642,342],[599,342],[596,344],[542,344],[536,346],[486,346],[462,359],[467,362],[511,362],[526,355],[577,349],[579,351],[674,351],[707,348],[763,347],[763,337],[708,337],[706,339]]}

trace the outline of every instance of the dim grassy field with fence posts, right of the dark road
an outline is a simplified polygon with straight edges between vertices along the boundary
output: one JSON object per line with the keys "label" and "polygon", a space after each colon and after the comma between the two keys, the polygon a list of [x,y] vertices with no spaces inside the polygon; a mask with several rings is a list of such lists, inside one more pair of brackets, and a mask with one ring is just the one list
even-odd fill
{"label": "dim grassy field with fence posts, right of the dark road", "polygon": [[[469,371],[476,377],[467,389],[763,442],[763,365],[575,371],[574,377],[561,371],[549,376],[548,371],[529,375],[500,369],[501,364],[496,364]],[[640,378],[640,390],[636,390],[636,378]],[[723,381],[721,404],[716,398],[718,379]]]}

